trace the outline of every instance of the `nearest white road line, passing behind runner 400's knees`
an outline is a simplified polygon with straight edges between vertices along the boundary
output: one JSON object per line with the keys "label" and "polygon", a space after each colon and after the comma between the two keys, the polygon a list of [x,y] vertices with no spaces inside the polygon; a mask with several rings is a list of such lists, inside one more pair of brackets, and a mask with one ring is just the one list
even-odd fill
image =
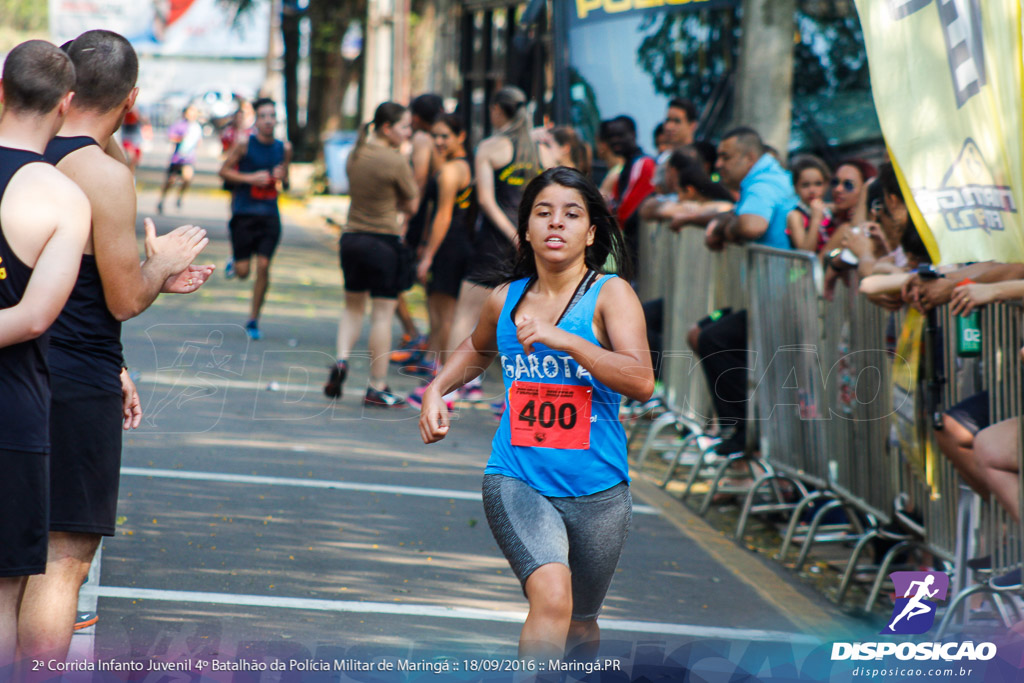
{"label": "nearest white road line, passing behind runner 400's knees", "polygon": [[[282,598],[268,595],[232,595],[229,593],[205,593],[200,591],[161,591],[145,588],[118,586],[82,587],[82,592],[95,593],[101,598],[124,600],[159,600],[163,602],[195,602],[217,605],[246,607],[279,607],[285,609],[309,609],[329,612],[354,612],[360,614],[395,614],[399,616],[426,616],[434,618],[462,618],[478,622],[501,622],[521,624],[525,612],[478,609],[474,607],[446,607],[442,605],[416,605],[390,602],[358,602],[354,600],[321,600],[313,598]],[[817,644],[818,638],[785,631],[762,631],[758,629],[729,629],[724,627],[697,626],[689,624],[662,624],[657,622],[634,622],[629,620],[599,620],[602,630],[624,633],[652,633],[668,636],[694,636],[698,638],[728,638],[732,640],[759,640],[771,642],[792,642]]]}

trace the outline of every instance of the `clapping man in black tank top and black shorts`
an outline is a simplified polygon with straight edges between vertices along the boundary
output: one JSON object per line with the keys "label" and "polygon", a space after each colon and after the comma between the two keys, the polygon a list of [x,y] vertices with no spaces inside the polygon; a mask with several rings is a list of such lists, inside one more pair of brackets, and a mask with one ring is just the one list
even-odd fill
{"label": "clapping man in black tank top and black shorts", "polygon": [[158,238],[150,220],[139,264],[132,174],[103,152],[135,100],[135,52],[118,34],[90,31],[68,53],[76,95],[47,157],[85,191],[93,215],[81,275],[51,335],[50,552],[46,573],[26,589],[18,643],[36,659],[63,658],[79,586],[100,537],[114,535],[121,431],[141,418],[122,372],[120,322],[160,292],[195,291],[213,269],[189,265],[208,242],[205,230],[184,225]]}

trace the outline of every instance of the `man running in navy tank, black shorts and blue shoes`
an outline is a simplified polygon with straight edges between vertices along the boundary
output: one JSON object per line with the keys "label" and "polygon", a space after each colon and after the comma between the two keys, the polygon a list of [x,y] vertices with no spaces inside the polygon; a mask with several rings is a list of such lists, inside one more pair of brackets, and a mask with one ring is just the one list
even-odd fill
{"label": "man running in navy tank, black shorts and blue shoes", "polygon": [[255,340],[263,336],[259,314],[270,284],[270,259],[281,241],[278,189],[279,185],[288,186],[292,145],[273,137],[278,109],[272,99],[257,99],[253,110],[256,133],[236,142],[220,167],[220,177],[231,183],[231,220],[227,228],[231,233],[234,274],[240,280],[249,276],[251,259],[256,254],[256,283],[246,323],[246,333]]}

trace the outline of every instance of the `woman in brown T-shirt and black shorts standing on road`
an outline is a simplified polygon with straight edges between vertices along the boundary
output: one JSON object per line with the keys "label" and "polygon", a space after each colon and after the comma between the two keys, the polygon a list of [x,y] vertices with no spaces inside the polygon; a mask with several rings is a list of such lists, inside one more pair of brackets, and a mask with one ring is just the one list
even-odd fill
{"label": "woman in brown T-shirt and black shorts standing on road", "polygon": [[345,310],[338,323],[338,359],[324,385],[328,398],[340,398],[348,375],[348,355],[362,332],[371,303],[370,384],[364,405],[400,408],[406,401],[387,386],[391,319],[402,289],[401,240],[416,213],[418,191],[413,169],[398,147],[413,134],[411,116],[395,102],[377,108],[348,158],[348,224],[341,236]]}

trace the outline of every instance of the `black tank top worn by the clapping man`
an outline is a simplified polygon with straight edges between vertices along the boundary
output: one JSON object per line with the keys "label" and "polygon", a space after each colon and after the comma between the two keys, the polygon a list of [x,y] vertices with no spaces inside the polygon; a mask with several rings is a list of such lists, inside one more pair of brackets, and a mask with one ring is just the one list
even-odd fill
{"label": "black tank top worn by the clapping man", "polygon": [[[97,144],[91,137],[55,137],[46,146],[54,166],[73,152]],[[75,289],[50,328],[50,372],[121,393],[121,323],[111,314],[96,257],[82,255]]]}

